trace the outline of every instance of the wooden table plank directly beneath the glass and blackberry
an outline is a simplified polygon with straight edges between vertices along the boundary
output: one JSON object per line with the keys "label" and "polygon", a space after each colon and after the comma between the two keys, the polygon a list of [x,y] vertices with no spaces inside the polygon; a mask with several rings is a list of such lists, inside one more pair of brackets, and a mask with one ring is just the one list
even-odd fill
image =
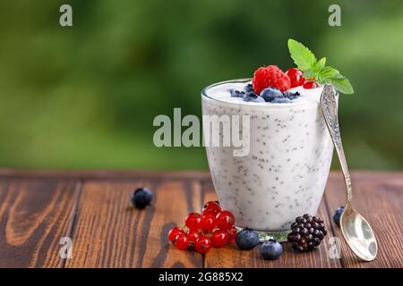
{"label": "wooden table plank directly beneath the glass and blackberry", "polygon": [[[203,183],[203,200],[217,199],[211,181]],[[324,202],[322,201],[318,215],[323,218],[327,226],[330,226],[329,217],[326,215],[327,210]],[[260,246],[250,251],[240,250],[236,244],[227,245],[225,248],[212,248],[209,253],[204,257],[205,267],[248,267],[248,268],[339,268],[341,265],[339,259],[331,259],[328,257],[329,251],[329,238],[332,236],[331,230],[325,240],[322,241],[321,246],[309,253],[296,253],[290,248],[289,243],[282,243],[284,252],[277,260],[264,260],[260,255]]]}

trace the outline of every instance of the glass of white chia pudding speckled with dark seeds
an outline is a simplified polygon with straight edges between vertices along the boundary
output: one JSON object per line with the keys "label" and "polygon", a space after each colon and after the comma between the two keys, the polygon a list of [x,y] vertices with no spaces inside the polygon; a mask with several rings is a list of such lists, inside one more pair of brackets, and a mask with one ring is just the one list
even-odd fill
{"label": "glass of white chia pudding speckled with dark seeds", "polygon": [[[302,214],[316,214],[330,171],[333,144],[323,119],[322,86],[288,89],[298,97],[286,103],[244,101],[234,90],[251,80],[228,80],[201,92],[204,115],[249,115],[249,152],[205,142],[211,178],[222,209],[238,228],[259,231],[261,238],[286,240],[290,224]],[[261,94],[262,95],[262,94]],[[203,136],[206,134],[203,124]],[[231,133],[234,126],[230,125]],[[241,132],[236,128],[236,132]],[[209,132],[223,132],[219,125]]]}

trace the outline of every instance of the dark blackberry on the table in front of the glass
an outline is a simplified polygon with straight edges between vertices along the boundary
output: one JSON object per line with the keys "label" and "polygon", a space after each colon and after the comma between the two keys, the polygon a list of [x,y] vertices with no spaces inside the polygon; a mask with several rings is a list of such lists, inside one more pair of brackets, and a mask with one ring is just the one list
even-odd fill
{"label": "dark blackberry on the table in front of the glass", "polygon": [[322,218],[304,214],[298,216],[296,222],[291,224],[291,232],[287,236],[292,248],[298,252],[310,251],[319,246],[328,234]]}

